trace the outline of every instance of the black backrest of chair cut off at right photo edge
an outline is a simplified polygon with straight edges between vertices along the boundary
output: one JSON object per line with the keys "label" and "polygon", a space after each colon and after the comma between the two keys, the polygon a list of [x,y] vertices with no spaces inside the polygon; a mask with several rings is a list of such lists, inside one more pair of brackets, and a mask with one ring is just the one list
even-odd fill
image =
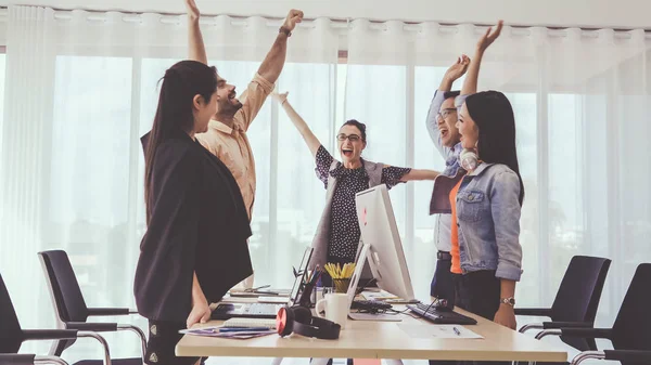
{"label": "black backrest of chair cut off at right photo edge", "polygon": [[651,263],[635,271],[613,324],[612,343],[615,350],[651,351]]}

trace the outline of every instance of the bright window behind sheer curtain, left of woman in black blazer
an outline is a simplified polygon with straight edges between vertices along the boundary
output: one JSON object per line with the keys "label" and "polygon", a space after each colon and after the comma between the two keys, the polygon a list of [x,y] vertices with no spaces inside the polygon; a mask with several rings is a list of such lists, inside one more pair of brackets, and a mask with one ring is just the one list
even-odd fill
{"label": "bright window behind sheer curtain, left of woman in black blazer", "polygon": [[[132,65],[130,57],[101,56],[58,56],[55,63],[51,138],[43,148],[43,246],[67,251],[92,307],[132,307],[139,252],[131,219]],[[49,303],[40,294],[39,302]],[[48,311],[38,314],[39,323],[53,318]],[[110,342],[120,339],[107,336]],[[125,342],[112,355],[137,349]],[[71,355],[100,353],[84,342]]]}

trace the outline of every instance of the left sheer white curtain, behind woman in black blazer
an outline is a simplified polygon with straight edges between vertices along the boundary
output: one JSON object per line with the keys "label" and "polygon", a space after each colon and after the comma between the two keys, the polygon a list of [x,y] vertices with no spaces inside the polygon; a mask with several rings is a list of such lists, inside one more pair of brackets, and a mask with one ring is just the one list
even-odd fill
{"label": "left sheer white curtain, behind woman in black blazer", "polygon": [[[145,231],[143,156],[157,81],[187,56],[184,16],[9,10],[7,90],[1,125],[0,273],[24,327],[54,326],[37,252],[64,249],[90,307],[135,308],[132,279]],[[244,90],[280,22],[202,18],[210,64]],[[278,88],[328,141],[334,114],[339,38],[328,19],[305,22],[289,40]],[[250,130],[258,192],[251,251],[257,281],[289,286],[309,245],[324,194],[293,126],[269,100]],[[322,186],[320,187],[322,188]],[[142,318],[131,321],[143,328]],[[137,356],[128,334],[106,335],[115,357]],[[100,359],[81,341],[65,359]],[[23,352],[49,346],[26,343]]]}

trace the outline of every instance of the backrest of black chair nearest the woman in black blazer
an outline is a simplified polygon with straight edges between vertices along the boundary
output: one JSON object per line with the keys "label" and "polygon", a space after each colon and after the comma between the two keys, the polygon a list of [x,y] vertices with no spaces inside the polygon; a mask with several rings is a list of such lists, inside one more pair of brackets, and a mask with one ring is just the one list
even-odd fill
{"label": "backrest of black chair nearest the woman in black blazer", "polygon": [[[66,322],[86,322],[88,307],[67,253],[63,250],[51,250],[38,252],[38,256],[46,273],[59,324],[64,327]],[[50,352],[61,356],[63,350],[73,343],[75,340],[54,341]]]}

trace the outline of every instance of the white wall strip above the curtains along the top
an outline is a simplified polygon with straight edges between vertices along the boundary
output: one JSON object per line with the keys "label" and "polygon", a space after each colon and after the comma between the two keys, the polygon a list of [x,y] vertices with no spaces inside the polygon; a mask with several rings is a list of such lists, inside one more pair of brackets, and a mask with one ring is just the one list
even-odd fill
{"label": "white wall strip above the curtains along the top", "polygon": [[[206,14],[284,16],[290,8],[307,17],[436,21],[510,25],[651,29],[649,0],[196,0]],[[0,4],[39,4],[56,9],[179,13],[182,0],[0,0]]]}

